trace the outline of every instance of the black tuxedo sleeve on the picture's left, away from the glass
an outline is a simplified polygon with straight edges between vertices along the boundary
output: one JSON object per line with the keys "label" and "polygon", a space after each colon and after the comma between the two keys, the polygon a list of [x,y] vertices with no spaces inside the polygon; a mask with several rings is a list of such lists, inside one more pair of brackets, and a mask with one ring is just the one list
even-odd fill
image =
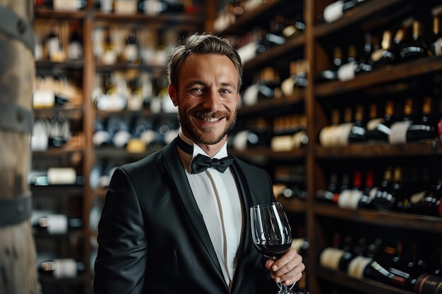
{"label": "black tuxedo sleeve on the picture's left, away from the glass", "polygon": [[95,294],[143,291],[147,240],[133,184],[121,168],[114,171],[98,225]]}

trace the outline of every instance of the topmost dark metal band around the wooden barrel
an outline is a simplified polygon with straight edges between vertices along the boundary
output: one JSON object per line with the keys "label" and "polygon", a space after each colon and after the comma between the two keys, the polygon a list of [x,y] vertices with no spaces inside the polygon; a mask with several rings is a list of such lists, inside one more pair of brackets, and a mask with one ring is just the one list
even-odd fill
{"label": "topmost dark metal band around the wooden barrel", "polygon": [[20,40],[34,54],[35,39],[32,24],[2,5],[0,5],[0,32],[5,32],[7,35]]}

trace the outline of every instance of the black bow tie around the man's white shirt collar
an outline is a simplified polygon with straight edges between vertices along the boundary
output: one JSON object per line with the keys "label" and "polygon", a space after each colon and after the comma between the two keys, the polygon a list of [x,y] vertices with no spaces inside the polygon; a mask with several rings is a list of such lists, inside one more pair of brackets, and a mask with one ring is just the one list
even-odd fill
{"label": "black bow tie around the man's white shirt collar", "polygon": [[[193,147],[189,144],[186,144],[181,137],[177,137],[177,144],[184,152],[188,154],[193,153]],[[206,169],[213,167],[222,173],[232,164],[234,157],[228,156],[222,159],[211,159],[210,157],[206,157],[203,154],[198,154],[192,161],[192,173],[201,173]]]}

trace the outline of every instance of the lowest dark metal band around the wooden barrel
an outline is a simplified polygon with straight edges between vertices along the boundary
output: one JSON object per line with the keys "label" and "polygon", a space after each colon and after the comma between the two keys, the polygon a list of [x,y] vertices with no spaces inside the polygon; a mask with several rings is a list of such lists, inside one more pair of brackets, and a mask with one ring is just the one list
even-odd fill
{"label": "lowest dark metal band around the wooden barrel", "polygon": [[32,197],[29,191],[14,199],[0,199],[0,228],[27,221],[31,213]]}

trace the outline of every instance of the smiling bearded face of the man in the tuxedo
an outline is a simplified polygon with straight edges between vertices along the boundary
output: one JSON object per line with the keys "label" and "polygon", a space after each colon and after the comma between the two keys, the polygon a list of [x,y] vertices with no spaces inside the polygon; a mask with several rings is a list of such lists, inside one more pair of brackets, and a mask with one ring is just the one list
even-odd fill
{"label": "smiling bearded face of the man in the tuxedo", "polygon": [[225,142],[237,118],[238,73],[227,56],[190,54],[179,70],[179,88],[169,86],[184,135],[194,142]]}

